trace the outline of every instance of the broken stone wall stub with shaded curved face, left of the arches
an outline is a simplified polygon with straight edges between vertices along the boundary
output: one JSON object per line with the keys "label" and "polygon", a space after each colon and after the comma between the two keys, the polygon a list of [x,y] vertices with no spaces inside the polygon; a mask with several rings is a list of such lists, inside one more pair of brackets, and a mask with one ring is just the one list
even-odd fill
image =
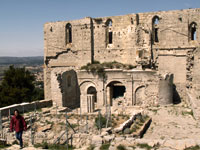
{"label": "broken stone wall stub with shaded curved face, left of the arches", "polygon": [[80,105],[80,90],[73,67],[51,68],[51,99],[54,104],[69,108]]}

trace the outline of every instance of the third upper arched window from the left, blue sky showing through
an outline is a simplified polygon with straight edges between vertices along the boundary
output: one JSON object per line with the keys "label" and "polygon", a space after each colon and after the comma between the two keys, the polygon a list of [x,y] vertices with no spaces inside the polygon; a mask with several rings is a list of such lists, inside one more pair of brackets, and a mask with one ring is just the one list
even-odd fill
{"label": "third upper arched window from the left, blue sky showing through", "polygon": [[153,34],[153,42],[159,42],[159,31],[158,31],[158,25],[159,25],[159,17],[158,16],[155,16],[153,17],[152,19],[152,34]]}

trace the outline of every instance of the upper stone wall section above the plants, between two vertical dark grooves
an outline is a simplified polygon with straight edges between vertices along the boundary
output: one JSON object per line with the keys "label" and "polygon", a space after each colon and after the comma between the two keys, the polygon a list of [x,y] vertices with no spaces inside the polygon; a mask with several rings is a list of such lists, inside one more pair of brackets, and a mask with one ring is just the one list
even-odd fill
{"label": "upper stone wall section above the plants, between two vertical dark grooves", "polygon": [[[138,25],[136,18],[136,14],[132,14],[93,19],[94,60],[136,65],[139,50],[143,50],[143,57],[149,60],[150,29],[147,24]],[[106,25],[108,20],[112,20],[110,27]],[[112,44],[107,42],[107,30],[113,33]]]}

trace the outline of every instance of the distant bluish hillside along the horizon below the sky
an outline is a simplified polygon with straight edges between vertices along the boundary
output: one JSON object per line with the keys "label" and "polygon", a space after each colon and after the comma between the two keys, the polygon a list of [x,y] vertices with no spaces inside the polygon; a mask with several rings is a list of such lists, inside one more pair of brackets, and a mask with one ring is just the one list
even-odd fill
{"label": "distant bluish hillside along the horizon below the sky", "polygon": [[25,64],[25,65],[42,65],[43,56],[36,57],[0,57],[0,65]]}

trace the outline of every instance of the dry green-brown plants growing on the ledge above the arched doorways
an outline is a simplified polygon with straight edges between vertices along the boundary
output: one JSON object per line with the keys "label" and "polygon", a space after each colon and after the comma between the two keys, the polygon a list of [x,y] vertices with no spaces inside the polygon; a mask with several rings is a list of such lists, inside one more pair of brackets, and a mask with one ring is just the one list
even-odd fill
{"label": "dry green-brown plants growing on the ledge above the arched doorways", "polygon": [[135,66],[130,64],[122,64],[117,61],[113,62],[104,62],[100,63],[99,61],[94,61],[93,63],[88,63],[85,66],[82,66],[82,70],[87,70],[88,72],[91,72],[94,75],[98,75],[99,77],[105,77],[105,69],[133,69]]}

